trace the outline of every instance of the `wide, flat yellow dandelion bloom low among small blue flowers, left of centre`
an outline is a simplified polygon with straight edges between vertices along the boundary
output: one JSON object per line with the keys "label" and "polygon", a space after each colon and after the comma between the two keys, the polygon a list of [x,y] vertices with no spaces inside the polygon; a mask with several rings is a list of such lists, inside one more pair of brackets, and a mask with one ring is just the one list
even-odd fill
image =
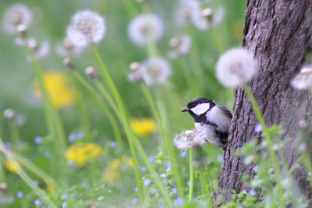
{"label": "wide, flat yellow dandelion bloom low among small blue flowers, left of centre", "polygon": [[76,167],[82,167],[87,161],[94,160],[100,156],[102,148],[95,143],[76,143],[66,151],[66,159],[73,161]]}

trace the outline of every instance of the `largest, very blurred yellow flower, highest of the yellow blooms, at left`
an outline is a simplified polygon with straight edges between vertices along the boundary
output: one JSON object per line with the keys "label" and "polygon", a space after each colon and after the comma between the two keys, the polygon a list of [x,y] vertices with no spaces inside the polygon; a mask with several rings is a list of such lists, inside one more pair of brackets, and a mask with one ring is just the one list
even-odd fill
{"label": "largest, very blurred yellow flower, highest of the yellow blooms, at left", "polygon": [[[69,87],[64,73],[59,71],[45,72],[42,80],[54,106],[61,108],[74,104],[74,92]],[[34,81],[34,89],[38,95],[41,94],[36,81]]]}

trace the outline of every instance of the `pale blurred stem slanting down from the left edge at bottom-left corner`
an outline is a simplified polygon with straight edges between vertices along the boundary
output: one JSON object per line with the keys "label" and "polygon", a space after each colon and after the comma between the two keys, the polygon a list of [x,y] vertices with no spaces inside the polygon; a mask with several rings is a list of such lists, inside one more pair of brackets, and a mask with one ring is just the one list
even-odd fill
{"label": "pale blurred stem slanting down from the left edge at bottom-left corner", "polygon": [[6,156],[7,160],[11,163],[13,168],[16,170],[17,174],[41,198],[41,200],[45,202],[45,204],[48,207],[57,208],[57,206],[46,195],[46,193],[42,191],[41,188],[39,188],[39,186],[37,186],[37,184],[35,184],[32,181],[32,179],[26,174],[26,172],[21,168],[21,166],[17,163],[17,161],[15,161],[14,156],[9,150],[7,150],[1,138],[0,138],[0,152],[2,152]]}

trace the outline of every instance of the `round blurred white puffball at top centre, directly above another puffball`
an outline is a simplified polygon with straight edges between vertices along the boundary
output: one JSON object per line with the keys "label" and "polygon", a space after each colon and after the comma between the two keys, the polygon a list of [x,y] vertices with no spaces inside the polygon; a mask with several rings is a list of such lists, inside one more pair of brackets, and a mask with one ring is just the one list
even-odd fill
{"label": "round blurred white puffball at top centre, directly above another puffball", "polygon": [[154,14],[141,14],[134,17],[128,26],[128,35],[132,42],[138,46],[145,46],[148,38],[159,41],[163,37],[163,23]]}

